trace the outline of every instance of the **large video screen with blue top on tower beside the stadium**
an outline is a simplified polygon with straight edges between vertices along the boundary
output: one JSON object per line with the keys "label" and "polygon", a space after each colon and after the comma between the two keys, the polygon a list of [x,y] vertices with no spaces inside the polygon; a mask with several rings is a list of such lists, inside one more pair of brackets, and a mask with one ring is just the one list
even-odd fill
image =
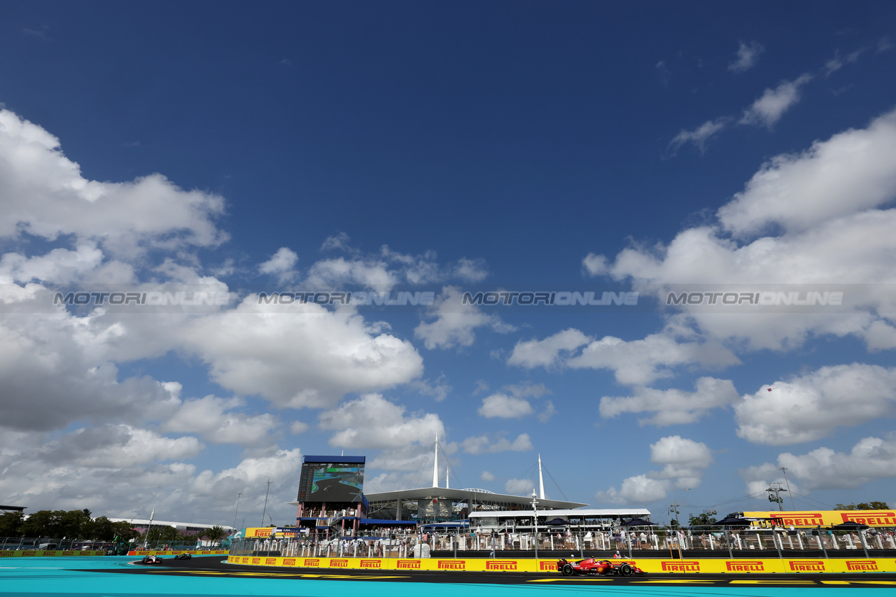
{"label": "large video screen with blue top on tower beside the stadium", "polygon": [[361,501],[364,461],[364,456],[306,456],[298,480],[298,501]]}

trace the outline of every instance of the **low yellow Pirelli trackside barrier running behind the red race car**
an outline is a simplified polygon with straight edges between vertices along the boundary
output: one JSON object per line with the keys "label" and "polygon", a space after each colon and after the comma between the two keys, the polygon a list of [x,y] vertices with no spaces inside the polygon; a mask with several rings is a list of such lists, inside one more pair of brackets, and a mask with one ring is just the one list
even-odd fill
{"label": "low yellow Pirelli trackside barrier running behind the red race car", "polygon": [[[352,570],[464,570],[469,572],[556,572],[556,559],[267,558],[229,556],[230,564]],[[797,559],[615,559],[648,574],[793,574],[799,572],[896,572],[896,558]]]}

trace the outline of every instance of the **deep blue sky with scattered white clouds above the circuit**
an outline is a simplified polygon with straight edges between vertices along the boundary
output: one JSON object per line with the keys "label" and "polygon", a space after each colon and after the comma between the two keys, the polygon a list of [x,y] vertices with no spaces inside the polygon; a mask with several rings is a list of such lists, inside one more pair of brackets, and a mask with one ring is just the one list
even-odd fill
{"label": "deep blue sky with scattered white clouds above the circuit", "polygon": [[[437,433],[452,487],[540,453],[660,520],[781,466],[797,509],[894,503],[894,60],[887,3],[7,4],[0,496],[251,523],[270,477],[287,523],[302,454],[424,485]],[[104,289],[230,299],[52,304]],[[258,304],[315,290],[435,301]]]}

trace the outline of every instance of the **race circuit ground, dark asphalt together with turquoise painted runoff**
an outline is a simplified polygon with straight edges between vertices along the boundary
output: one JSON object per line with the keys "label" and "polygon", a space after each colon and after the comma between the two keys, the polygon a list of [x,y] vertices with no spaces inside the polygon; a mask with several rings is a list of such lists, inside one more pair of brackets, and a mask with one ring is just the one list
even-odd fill
{"label": "race circuit ground, dark asphalt together with turquoise painted runoff", "polygon": [[[0,597],[890,597],[896,574],[564,577],[228,564],[223,556],[0,558]],[[870,591],[870,593],[869,593]],[[815,593],[818,593],[817,595]]]}

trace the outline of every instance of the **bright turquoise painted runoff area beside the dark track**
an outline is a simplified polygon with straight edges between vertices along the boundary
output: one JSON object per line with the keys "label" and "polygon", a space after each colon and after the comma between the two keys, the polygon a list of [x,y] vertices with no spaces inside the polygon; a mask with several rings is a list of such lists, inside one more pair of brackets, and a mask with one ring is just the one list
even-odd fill
{"label": "bright turquoise painted runoff area beside the dark track", "polygon": [[[865,597],[892,594],[892,588],[857,587],[709,587],[709,586],[560,586],[550,584],[452,584],[327,581],[316,579],[221,578],[215,576],[121,575],[97,568],[132,566],[134,556],[0,559],[0,595],[4,597],[142,597],[166,595],[289,595],[291,597]],[[869,593],[870,592],[870,593]],[[885,592],[885,593],[881,593]]]}

